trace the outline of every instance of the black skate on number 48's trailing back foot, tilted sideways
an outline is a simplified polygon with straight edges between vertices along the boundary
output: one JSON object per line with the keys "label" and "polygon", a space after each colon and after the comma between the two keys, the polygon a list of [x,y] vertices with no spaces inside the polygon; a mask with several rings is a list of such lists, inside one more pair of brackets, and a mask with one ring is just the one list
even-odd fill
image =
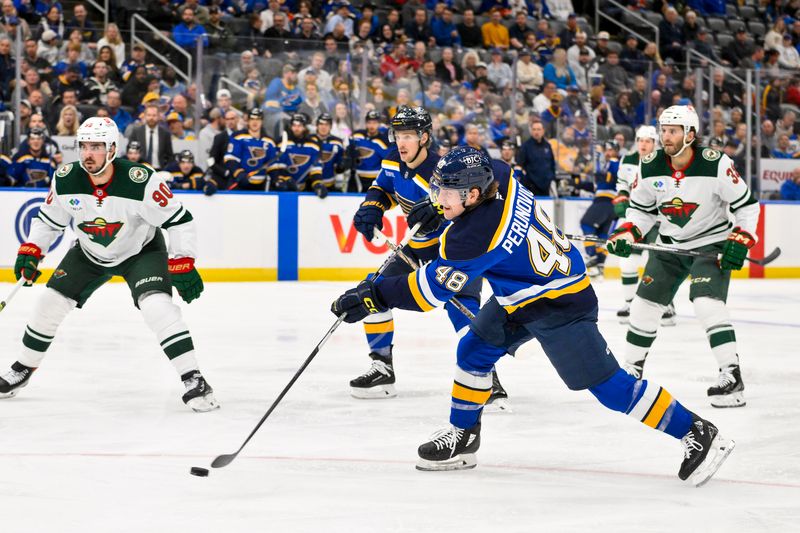
{"label": "black skate on number 48's trailing back foot, tilted sideways", "polygon": [[711,479],[736,446],[734,441],[723,438],[714,424],[697,416],[681,444],[684,459],[678,477],[688,479],[695,487]]}

